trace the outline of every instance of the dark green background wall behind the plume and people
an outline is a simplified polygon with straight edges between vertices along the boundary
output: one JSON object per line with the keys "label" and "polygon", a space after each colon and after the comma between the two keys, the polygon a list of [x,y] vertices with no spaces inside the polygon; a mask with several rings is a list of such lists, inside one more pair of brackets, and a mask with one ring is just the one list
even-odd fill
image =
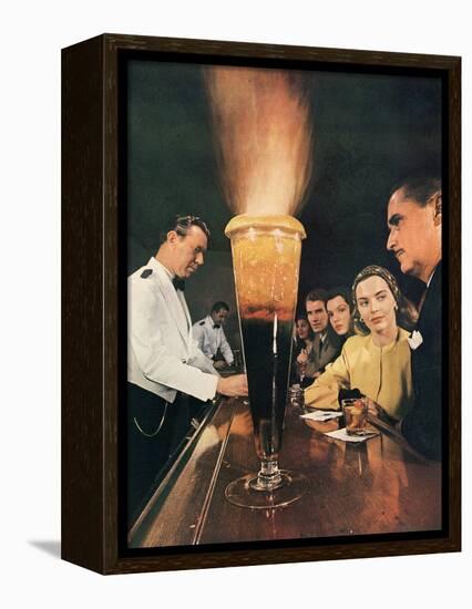
{"label": "dark green background wall behind the plume and people", "polygon": [[[314,123],[314,176],[299,214],[308,238],[300,302],[312,287],[350,286],[369,264],[387,266],[413,300],[418,285],[386,250],[386,203],[410,171],[441,172],[439,78],[306,72]],[[187,282],[193,319],[215,300],[232,306],[227,334],[238,345],[229,242],[230,213],[219,188],[198,65],[130,61],[127,72],[129,272],[158,247],[176,213],[204,217],[206,264]]]}

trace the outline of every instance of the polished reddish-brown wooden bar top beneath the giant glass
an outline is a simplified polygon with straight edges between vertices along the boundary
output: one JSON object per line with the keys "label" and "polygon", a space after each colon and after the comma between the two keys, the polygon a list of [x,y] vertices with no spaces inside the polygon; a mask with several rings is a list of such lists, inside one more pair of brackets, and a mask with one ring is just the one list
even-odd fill
{"label": "polished reddish-brown wooden bar top beneath the giant glass", "polygon": [[358,444],[325,435],[338,426],[288,406],[279,464],[309,478],[307,494],[277,509],[237,507],[225,488],[258,462],[247,403],[223,400],[131,529],[130,547],[440,529],[441,465],[389,433]]}

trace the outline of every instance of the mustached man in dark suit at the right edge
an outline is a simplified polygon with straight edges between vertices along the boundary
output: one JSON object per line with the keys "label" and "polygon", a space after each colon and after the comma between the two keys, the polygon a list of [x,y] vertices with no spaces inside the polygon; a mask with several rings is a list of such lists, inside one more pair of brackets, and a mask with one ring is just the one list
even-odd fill
{"label": "mustached man in dark suit at the right edge", "polygon": [[429,458],[442,446],[442,192],[438,178],[415,178],[396,188],[388,204],[389,238],[403,273],[424,283],[417,328],[409,339],[414,406],[400,423],[408,442]]}

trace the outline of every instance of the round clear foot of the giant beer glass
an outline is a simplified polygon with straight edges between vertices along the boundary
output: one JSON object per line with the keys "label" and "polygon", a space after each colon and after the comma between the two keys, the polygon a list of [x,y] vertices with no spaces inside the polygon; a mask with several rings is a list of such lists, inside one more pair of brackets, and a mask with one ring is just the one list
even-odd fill
{"label": "round clear foot of the giant beer glass", "polygon": [[257,474],[247,474],[226,487],[228,502],[249,509],[284,507],[299,499],[308,489],[308,478],[296,472],[280,469],[281,482],[273,491],[257,489]]}

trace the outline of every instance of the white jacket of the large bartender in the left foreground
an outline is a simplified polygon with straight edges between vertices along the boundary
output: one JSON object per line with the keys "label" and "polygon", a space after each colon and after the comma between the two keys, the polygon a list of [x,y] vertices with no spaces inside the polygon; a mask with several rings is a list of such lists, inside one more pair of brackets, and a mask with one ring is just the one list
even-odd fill
{"label": "white jacket of the large bartender in the left foreground", "polygon": [[177,391],[212,400],[218,376],[193,339],[184,292],[151,258],[127,279],[127,380],[172,403]]}

